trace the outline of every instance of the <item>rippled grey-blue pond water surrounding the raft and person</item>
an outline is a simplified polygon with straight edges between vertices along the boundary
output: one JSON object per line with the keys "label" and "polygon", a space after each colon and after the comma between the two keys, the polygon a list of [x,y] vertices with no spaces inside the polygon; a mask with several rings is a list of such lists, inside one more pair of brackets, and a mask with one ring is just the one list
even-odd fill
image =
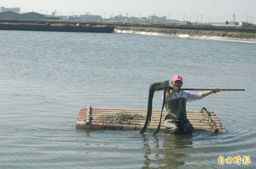
{"label": "rippled grey-blue pond water surrounding the raft and person", "polygon": [[[255,168],[255,44],[138,34],[0,31],[0,168]],[[146,109],[150,83],[245,89],[187,103],[227,133],[76,129],[82,107]],[[153,108],[161,109],[163,92]],[[219,164],[249,156],[251,163]]]}

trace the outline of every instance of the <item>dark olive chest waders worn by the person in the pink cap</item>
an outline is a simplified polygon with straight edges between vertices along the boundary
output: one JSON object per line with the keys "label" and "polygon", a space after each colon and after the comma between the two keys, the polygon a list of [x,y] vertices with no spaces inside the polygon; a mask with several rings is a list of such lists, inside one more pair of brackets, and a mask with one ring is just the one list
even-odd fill
{"label": "dark olive chest waders worn by the person in the pink cap", "polygon": [[167,132],[177,135],[191,135],[194,128],[186,116],[186,99],[180,97],[169,100],[165,103],[165,106],[164,126]]}

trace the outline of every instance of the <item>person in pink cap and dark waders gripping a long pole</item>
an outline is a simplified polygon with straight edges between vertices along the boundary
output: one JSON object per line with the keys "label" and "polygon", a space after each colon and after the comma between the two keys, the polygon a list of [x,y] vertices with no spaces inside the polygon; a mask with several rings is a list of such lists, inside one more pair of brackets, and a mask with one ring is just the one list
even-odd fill
{"label": "person in pink cap and dark waders gripping a long pole", "polygon": [[170,90],[170,95],[166,93],[166,117],[164,126],[169,134],[192,135],[193,126],[186,117],[186,102],[200,100],[212,93],[220,92],[218,88],[213,91],[192,93],[178,90],[183,85],[182,77],[178,74],[172,77],[172,86],[175,89]]}

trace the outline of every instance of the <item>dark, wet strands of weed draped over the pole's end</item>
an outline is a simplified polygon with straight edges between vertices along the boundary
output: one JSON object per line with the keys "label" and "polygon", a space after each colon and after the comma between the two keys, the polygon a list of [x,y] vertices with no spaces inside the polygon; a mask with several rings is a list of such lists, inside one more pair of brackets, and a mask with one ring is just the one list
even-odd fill
{"label": "dark, wet strands of weed draped over the pole's end", "polygon": [[170,94],[170,89],[172,89],[172,87],[169,86],[169,80],[166,80],[164,82],[157,82],[157,83],[151,83],[150,84],[149,91],[148,91],[147,116],[146,116],[146,120],[145,120],[145,124],[143,126],[143,129],[140,131],[140,133],[144,133],[148,129],[148,126],[150,124],[151,115],[152,115],[152,101],[153,101],[153,97],[154,97],[154,92],[164,90],[164,92],[163,92],[163,106],[162,106],[162,111],[161,111],[161,116],[160,116],[160,122],[158,124],[157,130],[154,132],[153,135],[157,134],[160,131],[163,108],[165,106],[166,92],[167,92],[167,94]]}

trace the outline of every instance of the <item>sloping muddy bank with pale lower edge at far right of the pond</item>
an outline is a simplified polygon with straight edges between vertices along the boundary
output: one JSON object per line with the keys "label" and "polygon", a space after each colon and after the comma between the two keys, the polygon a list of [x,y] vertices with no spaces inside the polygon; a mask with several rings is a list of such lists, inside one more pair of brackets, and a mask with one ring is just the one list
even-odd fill
{"label": "sloping muddy bank with pale lower edge at far right of the pond", "polygon": [[115,29],[138,32],[156,32],[163,34],[188,34],[190,36],[218,36],[231,37],[240,39],[256,39],[256,32],[254,31],[223,31],[223,30],[197,30],[197,29],[166,29],[156,27],[135,27],[135,26],[116,26]]}

